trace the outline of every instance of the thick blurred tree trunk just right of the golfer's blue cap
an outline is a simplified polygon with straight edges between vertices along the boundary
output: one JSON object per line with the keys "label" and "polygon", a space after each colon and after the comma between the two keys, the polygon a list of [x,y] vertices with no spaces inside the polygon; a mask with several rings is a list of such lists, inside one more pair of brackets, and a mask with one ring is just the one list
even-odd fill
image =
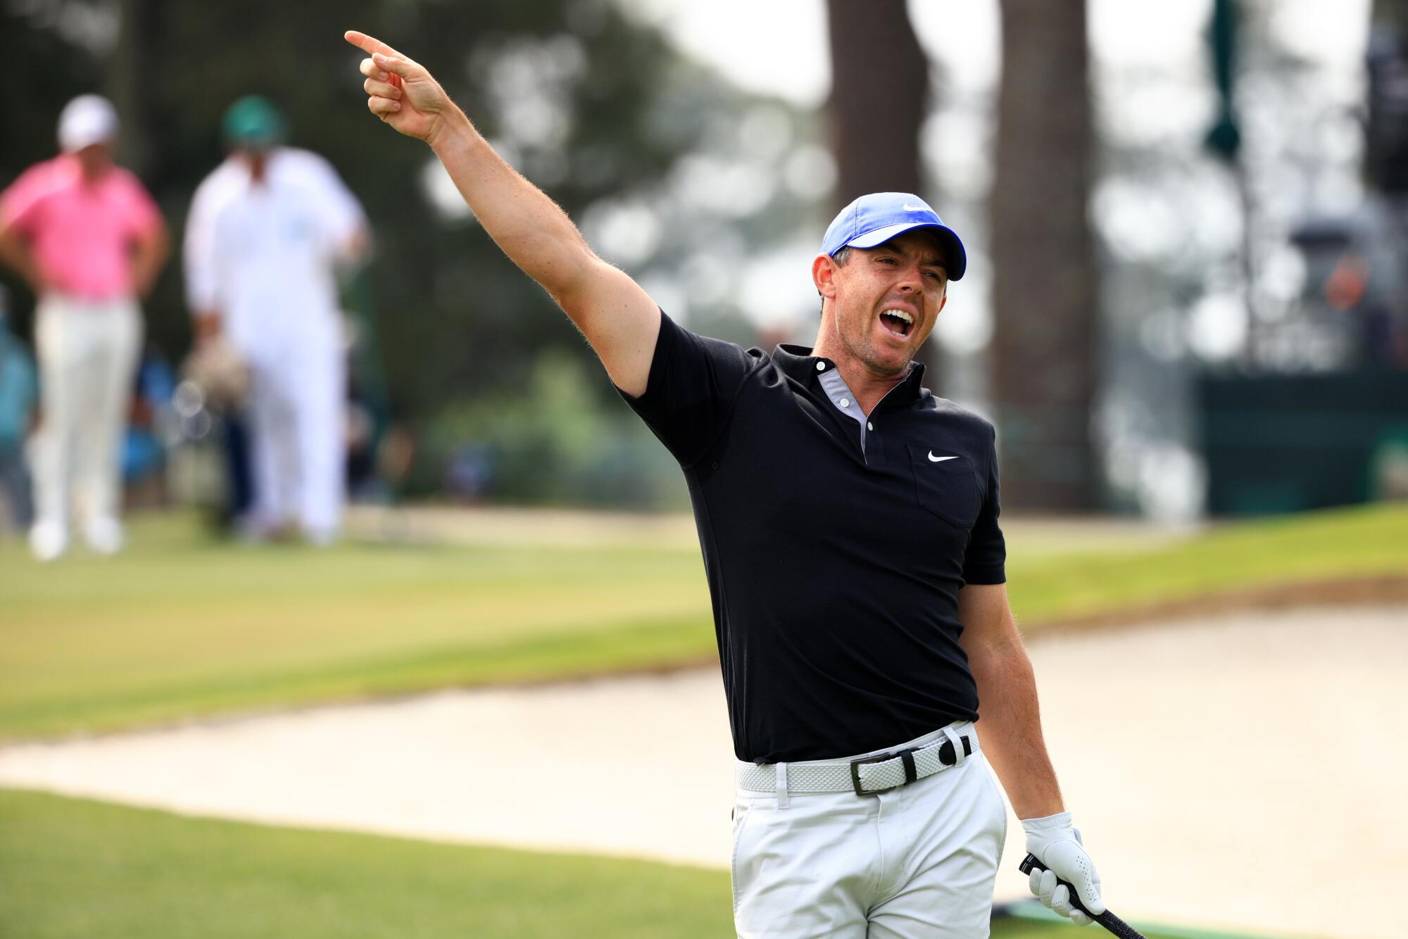
{"label": "thick blurred tree trunk just right of the golfer's blue cap", "polygon": [[993,222],[993,390],[1002,505],[1087,511],[1097,280],[1087,222],[1086,4],[1001,0]]}

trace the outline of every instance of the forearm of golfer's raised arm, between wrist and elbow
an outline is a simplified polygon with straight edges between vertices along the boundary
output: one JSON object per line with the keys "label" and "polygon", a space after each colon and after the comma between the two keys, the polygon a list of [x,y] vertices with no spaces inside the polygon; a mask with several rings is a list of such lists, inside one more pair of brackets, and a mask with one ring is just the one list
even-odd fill
{"label": "forearm of golfer's raised arm, between wrist and elbow", "polygon": [[446,117],[431,149],[508,259],[553,297],[572,294],[594,255],[567,214],[505,163],[459,111]]}

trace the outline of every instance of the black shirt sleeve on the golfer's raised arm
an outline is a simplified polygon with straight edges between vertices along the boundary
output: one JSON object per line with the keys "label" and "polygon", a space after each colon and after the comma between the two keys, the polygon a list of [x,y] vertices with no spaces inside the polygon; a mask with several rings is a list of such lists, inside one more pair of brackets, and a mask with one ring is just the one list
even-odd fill
{"label": "black shirt sleeve on the golfer's raised arm", "polygon": [[758,363],[742,346],[696,335],[662,311],[645,393],[632,397],[617,391],[689,467],[728,424],[743,379]]}

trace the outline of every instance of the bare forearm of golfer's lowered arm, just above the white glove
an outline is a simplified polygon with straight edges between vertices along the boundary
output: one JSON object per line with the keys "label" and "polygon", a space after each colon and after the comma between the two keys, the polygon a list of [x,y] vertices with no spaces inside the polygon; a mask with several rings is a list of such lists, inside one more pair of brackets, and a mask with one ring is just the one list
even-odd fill
{"label": "bare forearm of golfer's lowered arm, just above the white glove", "polygon": [[1021,643],[969,656],[977,681],[983,753],[1002,781],[1018,818],[1064,811],[1056,771],[1042,739],[1032,663]]}

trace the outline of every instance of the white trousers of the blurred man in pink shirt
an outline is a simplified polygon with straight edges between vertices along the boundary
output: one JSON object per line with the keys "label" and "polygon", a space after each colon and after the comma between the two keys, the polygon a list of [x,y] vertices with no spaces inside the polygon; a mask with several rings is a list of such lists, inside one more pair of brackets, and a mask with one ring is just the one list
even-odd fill
{"label": "white trousers of the blurred man in pink shirt", "polygon": [[46,294],[34,328],[42,422],[34,448],[35,521],[63,528],[121,511],[121,446],[142,342],[130,297]]}

